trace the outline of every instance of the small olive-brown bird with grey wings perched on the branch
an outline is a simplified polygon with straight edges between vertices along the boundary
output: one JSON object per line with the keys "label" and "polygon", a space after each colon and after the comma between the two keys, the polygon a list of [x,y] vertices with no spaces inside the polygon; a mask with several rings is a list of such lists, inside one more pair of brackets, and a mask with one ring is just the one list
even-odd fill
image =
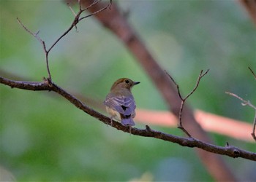
{"label": "small olive-brown bird with grey wings perched on the branch", "polygon": [[110,114],[111,125],[113,118],[121,121],[124,126],[129,126],[130,130],[131,126],[135,125],[132,118],[135,117],[136,105],[131,89],[139,83],[127,78],[118,79],[113,83],[104,101],[107,112]]}

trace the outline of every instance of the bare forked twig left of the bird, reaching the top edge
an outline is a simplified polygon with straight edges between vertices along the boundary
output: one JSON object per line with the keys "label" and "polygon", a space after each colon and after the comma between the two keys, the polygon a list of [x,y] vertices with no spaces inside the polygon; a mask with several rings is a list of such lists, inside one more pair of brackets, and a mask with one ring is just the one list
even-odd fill
{"label": "bare forked twig left of the bird, reaching the top edge", "polygon": [[41,44],[42,44],[42,47],[43,47],[43,50],[45,52],[45,60],[46,60],[46,67],[47,67],[47,71],[48,71],[48,83],[51,85],[51,82],[52,82],[52,78],[51,78],[51,75],[50,75],[50,68],[49,68],[49,61],[48,61],[48,55],[49,55],[49,52],[50,50],[53,49],[53,47],[64,37],[67,35],[67,33],[69,33],[69,31],[72,30],[72,28],[77,28],[76,25],[80,22],[80,20],[83,20],[85,19],[86,17],[90,17],[92,15],[95,15],[99,12],[102,12],[103,10],[107,9],[108,7],[111,6],[112,4],[112,0],[110,0],[110,3],[107,4],[105,7],[102,7],[102,9],[99,9],[97,10],[96,12],[92,12],[91,14],[89,15],[86,15],[84,17],[80,17],[80,15],[82,14],[82,12],[85,12],[87,9],[89,9],[90,7],[94,6],[94,4],[97,4],[100,0],[97,0],[97,1],[94,1],[92,4],[89,5],[89,7],[86,7],[85,9],[82,9],[81,7],[81,4],[80,4],[80,0],[78,0],[78,3],[79,3],[79,12],[78,14],[75,14],[75,12],[72,10],[71,7],[69,7],[72,11],[72,13],[75,15],[75,19],[73,20],[72,24],[69,26],[69,28],[67,29],[67,31],[65,31],[64,33],[61,34],[61,36],[59,36],[59,38],[53,42],[53,44],[50,46],[49,49],[46,48],[46,45],[45,45],[45,41],[43,41],[39,36],[39,31],[37,31],[37,33],[33,33],[32,31],[29,30],[29,28],[26,28],[25,25],[23,25],[23,23],[21,23],[21,21],[18,19],[17,17],[17,20],[18,20],[18,23],[25,29],[25,31],[27,31],[28,33],[30,33],[32,36],[34,36]]}

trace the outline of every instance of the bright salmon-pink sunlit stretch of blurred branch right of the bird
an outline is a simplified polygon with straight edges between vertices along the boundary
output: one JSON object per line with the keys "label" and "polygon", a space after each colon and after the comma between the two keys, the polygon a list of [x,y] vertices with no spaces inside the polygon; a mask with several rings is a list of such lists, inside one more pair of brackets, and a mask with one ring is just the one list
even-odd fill
{"label": "bright salmon-pink sunlit stretch of blurred branch right of the bird", "polygon": [[[241,141],[254,142],[252,135],[250,135],[252,132],[252,124],[200,110],[196,110],[194,115],[197,122],[206,131],[227,135]],[[178,124],[176,116],[169,111],[137,109],[135,120],[143,124],[152,124],[162,127],[177,127]]]}

